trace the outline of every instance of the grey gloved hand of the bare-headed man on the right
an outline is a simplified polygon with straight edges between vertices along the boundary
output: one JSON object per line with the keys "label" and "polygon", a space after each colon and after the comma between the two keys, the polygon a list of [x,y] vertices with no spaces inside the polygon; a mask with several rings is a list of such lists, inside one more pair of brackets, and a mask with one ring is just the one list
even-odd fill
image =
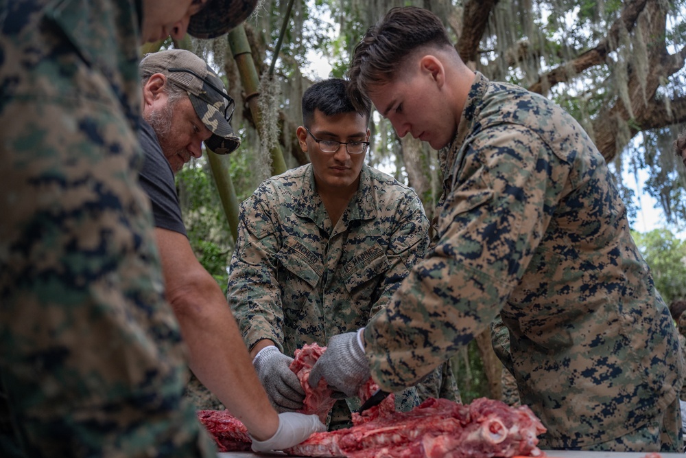
{"label": "grey gloved hand of the bare-headed man on the right", "polygon": [[331,337],[327,351],[309,373],[309,385],[316,387],[322,377],[330,387],[345,393],[348,398],[357,396],[359,387],[370,377],[369,363],[357,341],[357,332]]}

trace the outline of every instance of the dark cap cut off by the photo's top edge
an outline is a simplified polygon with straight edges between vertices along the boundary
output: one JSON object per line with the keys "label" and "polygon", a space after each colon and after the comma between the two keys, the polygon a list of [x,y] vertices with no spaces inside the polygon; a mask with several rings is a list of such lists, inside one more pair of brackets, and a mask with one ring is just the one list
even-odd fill
{"label": "dark cap cut off by the photo's top edge", "polygon": [[188,33],[196,38],[215,38],[246,20],[257,0],[209,0],[191,16]]}

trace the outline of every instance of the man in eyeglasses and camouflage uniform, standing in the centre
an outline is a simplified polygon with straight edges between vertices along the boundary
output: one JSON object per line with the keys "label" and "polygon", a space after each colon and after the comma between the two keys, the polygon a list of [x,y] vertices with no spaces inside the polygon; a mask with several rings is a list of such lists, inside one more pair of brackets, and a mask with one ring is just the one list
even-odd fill
{"label": "man in eyeglasses and camouflage uniform, standing in the centre", "polygon": [[[365,325],[429,242],[416,194],[364,164],[370,106],[355,111],[345,88],[331,79],[305,91],[296,135],[311,163],[268,179],[241,204],[227,297],[279,411],[303,405],[288,369],[295,350]],[[445,396],[458,396],[452,374],[440,373],[423,394],[439,396],[441,382]],[[396,400],[409,410],[419,398],[413,388]],[[351,426],[359,407],[358,398],[339,400],[329,429]]]}

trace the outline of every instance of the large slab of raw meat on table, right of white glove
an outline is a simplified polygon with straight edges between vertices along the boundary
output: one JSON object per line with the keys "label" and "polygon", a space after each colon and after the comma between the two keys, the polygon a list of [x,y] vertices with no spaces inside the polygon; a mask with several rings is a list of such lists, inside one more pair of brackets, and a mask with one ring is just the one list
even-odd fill
{"label": "large slab of raw meat on table, right of white glove", "polygon": [[349,458],[490,458],[539,456],[545,428],[528,407],[477,399],[469,405],[429,398],[352,428],[315,433],[286,450],[293,455]]}

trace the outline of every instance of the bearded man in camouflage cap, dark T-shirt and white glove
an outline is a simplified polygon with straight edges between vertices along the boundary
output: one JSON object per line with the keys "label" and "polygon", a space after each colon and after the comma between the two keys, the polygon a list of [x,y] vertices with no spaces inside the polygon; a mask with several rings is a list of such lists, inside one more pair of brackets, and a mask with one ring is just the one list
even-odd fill
{"label": "bearded man in camouflage cap, dark T-shirt and white glove", "polygon": [[[247,367],[238,363],[237,349],[243,350],[241,335],[220,286],[193,254],[174,185],[174,174],[191,157],[200,157],[203,142],[218,154],[228,154],[240,146],[229,124],[235,104],[219,76],[190,51],[147,54],[139,69],[143,80],[141,145],[145,152],[140,178],[152,203],[167,300],[189,347],[193,374],[246,424],[248,431],[259,432],[270,419],[272,408],[259,384],[255,385],[249,362]],[[197,384],[195,378],[193,383]],[[281,415],[279,424],[283,431],[286,426],[299,430],[303,438],[324,428],[316,417],[301,414]],[[284,437],[283,431],[272,437],[271,448],[298,442],[294,437]]]}

